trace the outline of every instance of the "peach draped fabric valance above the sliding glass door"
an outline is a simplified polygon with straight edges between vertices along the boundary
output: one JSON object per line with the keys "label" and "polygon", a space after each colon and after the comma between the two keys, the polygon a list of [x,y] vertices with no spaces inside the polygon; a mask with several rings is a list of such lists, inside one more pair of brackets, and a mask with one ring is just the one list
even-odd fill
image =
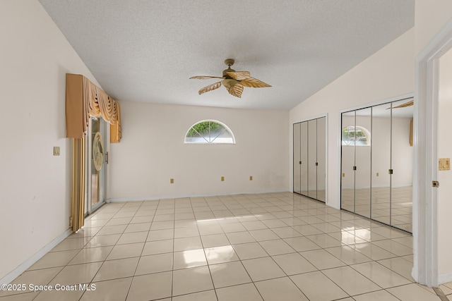
{"label": "peach draped fabric valance above the sliding glass door", "polygon": [[66,73],[66,137],[84,137],[91,116],[110,123],[110,142],[121,140],[119,104],[83,75]]}

